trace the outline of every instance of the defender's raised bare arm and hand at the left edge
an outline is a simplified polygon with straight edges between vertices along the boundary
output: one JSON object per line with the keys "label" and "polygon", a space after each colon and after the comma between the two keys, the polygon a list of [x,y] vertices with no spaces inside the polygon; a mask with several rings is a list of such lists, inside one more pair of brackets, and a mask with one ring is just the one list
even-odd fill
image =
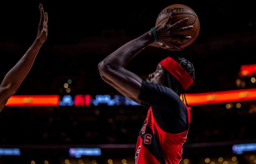
{"label": "defender's raised bare arm and hand at the left edge", "polygon": [[38,25],[37,38],[19,62],[5,75],[0,85],[0,112],[8,99],[16,93],[20,84],[29,73],[39,49],[47,38],[48,15],[47,12],[44,12],[42,4],[39,4],[39,9],[41,17]]}

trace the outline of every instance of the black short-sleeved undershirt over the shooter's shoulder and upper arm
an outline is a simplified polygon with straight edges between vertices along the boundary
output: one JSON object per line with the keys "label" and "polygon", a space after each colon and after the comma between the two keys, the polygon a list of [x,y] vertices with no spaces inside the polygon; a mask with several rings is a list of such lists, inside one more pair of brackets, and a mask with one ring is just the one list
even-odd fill
{"label": "black short-sleeved undershirt over the shooter's shoulder and upper arm", "polygon": [[142,81],[138,99],[146,108],[152,106],[154,117],[165,132],[180,133],[187,130],[187,109],[172,89]]}

